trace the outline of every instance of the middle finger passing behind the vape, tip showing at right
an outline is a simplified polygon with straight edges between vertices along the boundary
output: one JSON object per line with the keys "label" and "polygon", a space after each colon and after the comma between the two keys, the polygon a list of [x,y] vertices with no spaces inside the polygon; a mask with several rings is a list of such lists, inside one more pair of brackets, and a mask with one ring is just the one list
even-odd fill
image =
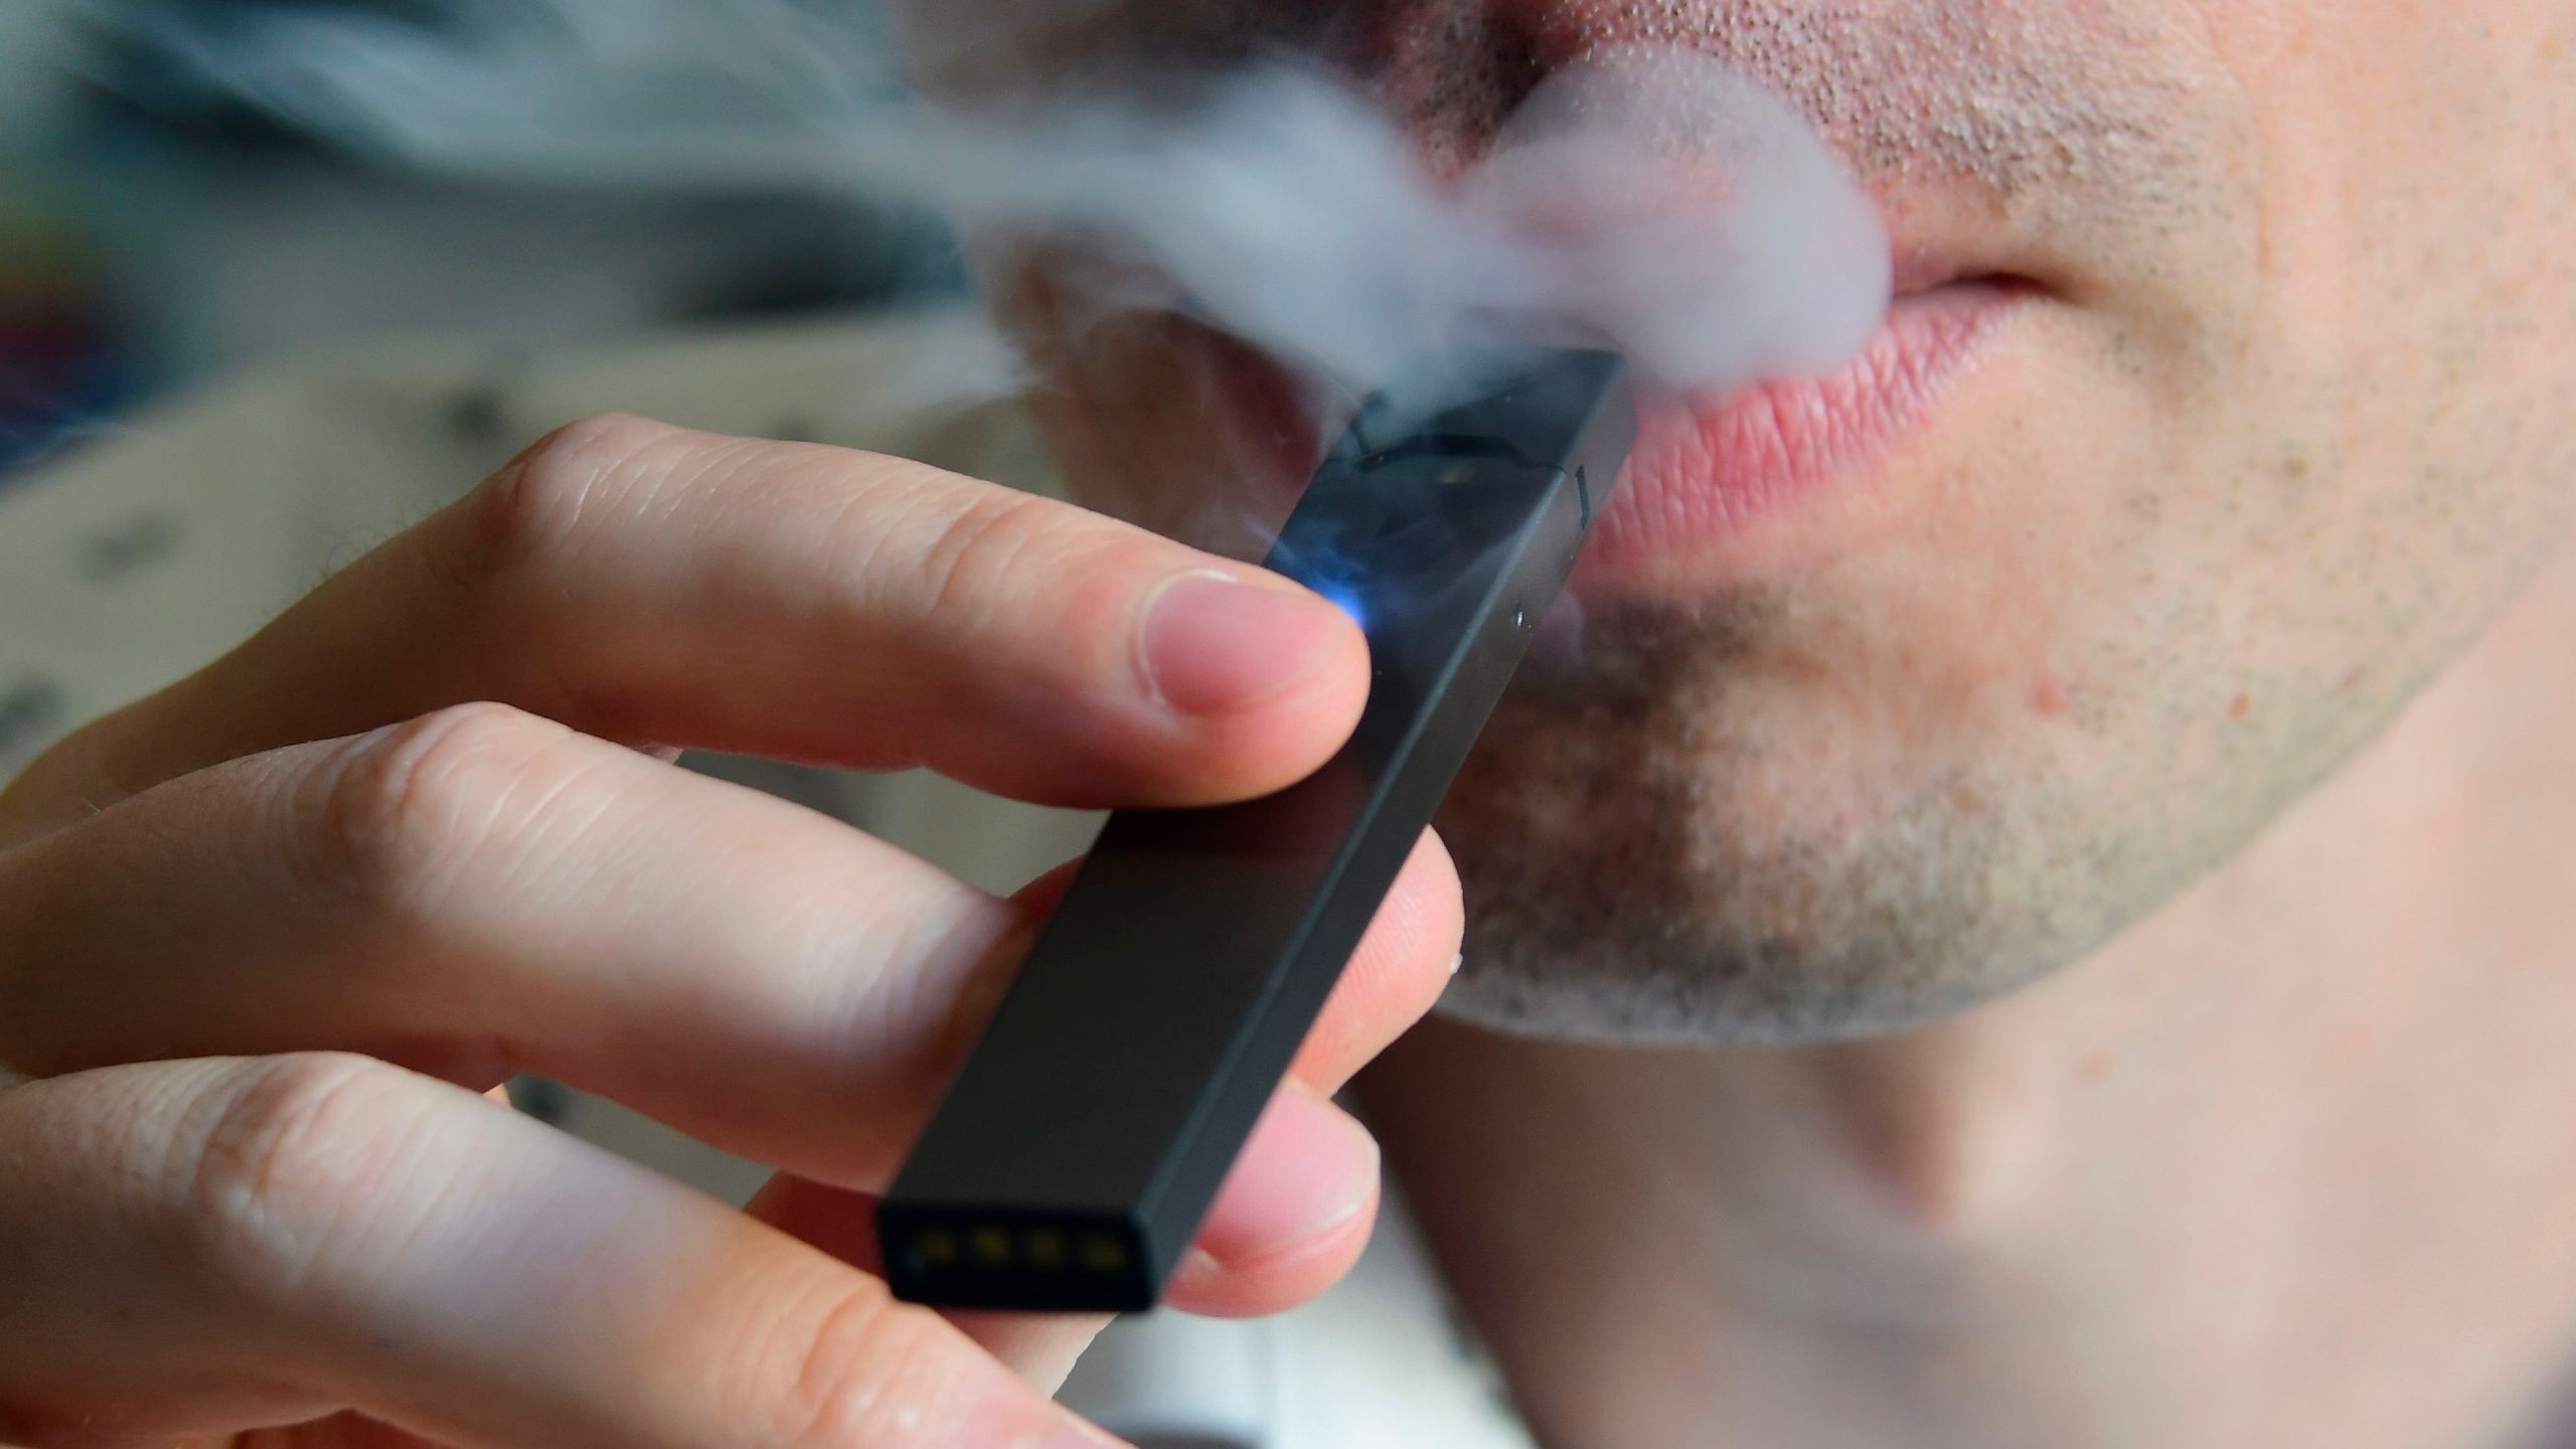
{"label": "middle finger passing behind the vape, tip showing at right", "polygon": [[[1327,1008],[1324,1078],[1450,959],[1437,848],[1383,918],[1399,931],[1370,933]],[[822,815],[469,706],[198,771],[0,861],[0,1060],[335,1047],[466,1085],[538,1070],[873,1189],[1033,928]]]}

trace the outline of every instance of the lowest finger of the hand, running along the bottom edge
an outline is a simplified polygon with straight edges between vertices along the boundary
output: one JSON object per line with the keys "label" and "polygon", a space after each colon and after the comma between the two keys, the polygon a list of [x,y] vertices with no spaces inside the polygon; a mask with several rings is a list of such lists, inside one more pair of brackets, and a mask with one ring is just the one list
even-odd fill
{"label": "lowest finger of the hand, running along the bottom edge", "polygon": [[876,1279],[368,1057],[15,1088],[0,1152],[23,1441],[332,1405],[466,1446],[1105,1441]]}

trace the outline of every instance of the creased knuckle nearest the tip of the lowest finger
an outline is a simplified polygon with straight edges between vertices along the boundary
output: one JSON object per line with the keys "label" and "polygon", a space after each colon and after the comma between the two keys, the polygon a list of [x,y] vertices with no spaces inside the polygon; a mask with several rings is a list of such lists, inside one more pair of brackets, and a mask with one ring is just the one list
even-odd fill
{"label": "creased knuckle nearest the tip of the lowest finger", "polygon": [[881,1284],[835,1289],[791,1346],[781,1400],[770,1405],[778,1444],[930,1444],[925,1426],[943,1397],[945,1372],[930,1328]]}

